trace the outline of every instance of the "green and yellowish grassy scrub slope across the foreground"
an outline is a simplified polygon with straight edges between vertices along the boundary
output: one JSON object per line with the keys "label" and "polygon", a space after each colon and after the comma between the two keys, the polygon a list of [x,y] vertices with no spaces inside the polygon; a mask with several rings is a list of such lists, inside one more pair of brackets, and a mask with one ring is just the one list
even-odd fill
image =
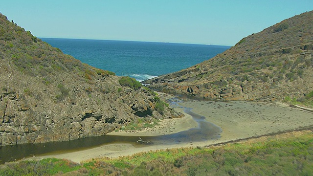
{"label": "green and yellowish grassy scrub slope across the foreground", "polygon": [[6,163],[0,175],[309,176],[313,132],[288,132],[209,148],[180,148],[82,163],[48,158]]}

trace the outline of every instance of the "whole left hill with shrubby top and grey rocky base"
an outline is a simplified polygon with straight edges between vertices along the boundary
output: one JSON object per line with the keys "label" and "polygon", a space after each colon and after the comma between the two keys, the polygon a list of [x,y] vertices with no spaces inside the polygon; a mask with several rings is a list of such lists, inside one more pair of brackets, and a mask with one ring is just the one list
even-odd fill
{"label": "whole left hill with shrubby top and grey rocky base", "polygon": [[129,77],[82,64],[0,14],[0,145],[102,135],[175,116]]}

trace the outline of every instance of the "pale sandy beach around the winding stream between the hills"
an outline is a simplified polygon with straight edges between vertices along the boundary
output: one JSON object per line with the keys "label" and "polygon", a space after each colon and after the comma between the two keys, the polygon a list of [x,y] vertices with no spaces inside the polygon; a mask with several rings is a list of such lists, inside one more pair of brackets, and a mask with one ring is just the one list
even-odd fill
{"label": "pale sandy beach around the winding stream between the hills", "polygon": [[[147,147],[134,147],[131,144],[111,144],[100,147],[71,152],[66,154],[51,154],[32,157],[41,159],[47,157],[66,158],[81,162],[96,157],[118,157],[147,152],[151,150],[207,146],[221,142],[244,139],[253,136],[299,129],[313,125],[313,112],[291,108],[283,103],[268,102],[218,102],[180,99],[179,106],[174,109],[183,112],[183,108],[192,108],[192,111],[205,117],[206,121],[222,128],[221,138],[204,142],[186,142],[184,144],[148,145]],[[183,112],[184,113],[184,112]],[[134,132],[111,132],[112,135],[160,135],[181,132],[197,127],[192,117],[186,113],[182,118],[164,119],[160,125],[150,129]]]}

